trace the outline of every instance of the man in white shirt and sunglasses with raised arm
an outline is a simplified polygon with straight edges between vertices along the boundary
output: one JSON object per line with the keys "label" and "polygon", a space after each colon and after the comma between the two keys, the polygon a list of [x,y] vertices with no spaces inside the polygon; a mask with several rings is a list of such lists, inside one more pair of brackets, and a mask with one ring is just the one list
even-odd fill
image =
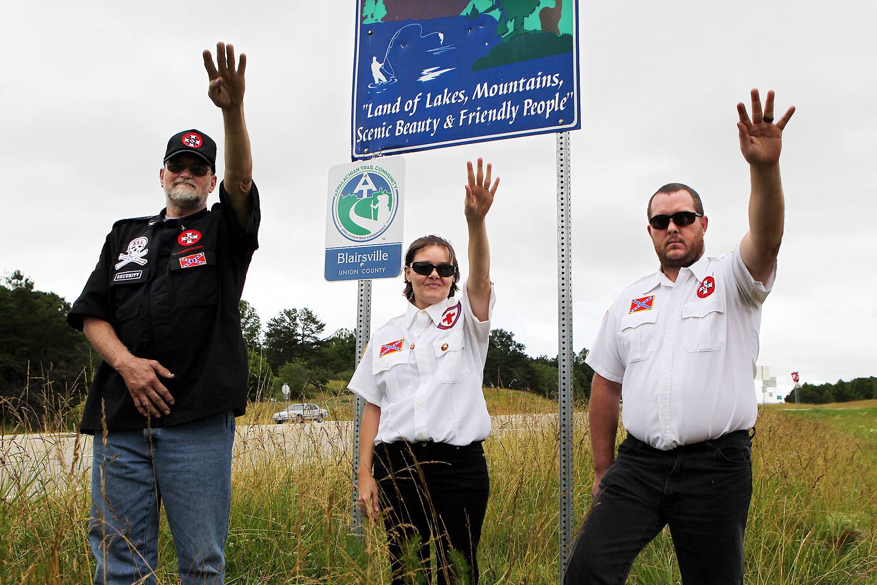
{"label": "man in white shirt and sunglasses with raised arm", "polygon": [[[750,165],[749,232],[730,254],[703,255],[707,218],[681,183],[648,204],[660,270],[624,289],[603,319],[588,365],[594,503],[564,582],[620,583],[669,524],[685,585],[743,582],[757,404],[752,389],[761,304],[774,284],[783,230],[782,130],[774,92],[752,120],[738,103]],[[627,439],[615,453],[619,400]]]}

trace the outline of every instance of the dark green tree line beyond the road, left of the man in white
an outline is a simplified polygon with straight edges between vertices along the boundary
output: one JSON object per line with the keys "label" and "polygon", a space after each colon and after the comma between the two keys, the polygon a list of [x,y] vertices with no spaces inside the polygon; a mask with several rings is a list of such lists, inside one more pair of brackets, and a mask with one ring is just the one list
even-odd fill
{"label": "dark green tree line beyond the road, left of the man in white", "polygon": [[[36,422],[48,413],[81,403],[100,356],[81,332],[67,325],[70,303],[53,292],[36,289],[16,270],[0,281],[0,421]],[[325,323],[310,309],[284,309],[265,322],[246,301],[240,302],[241,328],[249,354],[248,395],[252,400],[315,396],[344,389],[353,376],[356,335],[339,329],[326,335]],[[532,358],[513,332],[491,332],[484,384],[528,390],[556,398],[557,357]],[[574,354],[573,385],[578,399],[590,395],[593,376]],[[343,384],[329,384],[329,381]]]}

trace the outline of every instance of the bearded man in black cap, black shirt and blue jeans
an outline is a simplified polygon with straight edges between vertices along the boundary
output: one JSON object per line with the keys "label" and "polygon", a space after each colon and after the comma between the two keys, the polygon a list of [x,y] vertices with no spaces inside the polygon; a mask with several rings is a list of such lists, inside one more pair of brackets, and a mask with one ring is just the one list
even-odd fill
{"label": "bearded man in black cap, black shirt and blue jeans", "polygon": [[103,356],[82,413],[96,434],[89,541],[96,583],[154,583],[161,503],[184,584],[222,583],[231,503],[234,417],[246,408],[239,302],[258,247],[259,195],[244,121],[246,55],[204,51],[208,95],[225,126],[168,141],[167,207],[113,225],[68,323]]}

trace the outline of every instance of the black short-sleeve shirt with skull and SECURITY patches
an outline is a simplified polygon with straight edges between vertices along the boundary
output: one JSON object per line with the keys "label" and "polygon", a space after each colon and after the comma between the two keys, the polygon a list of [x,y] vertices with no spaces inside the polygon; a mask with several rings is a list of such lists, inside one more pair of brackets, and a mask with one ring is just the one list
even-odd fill
{"label": "black short-sleeve shirt with skull and SECURITY patches", "polygon": [[[82,330],[82,317],[109,322],[118,339],[139,358],[158,360],[174,373],[160,378],[174,396],[170,415],[153,427],[182,424],[216,412],[246,409],[246,346],[240,330],[240,296],[246,270],[259,247],[259,193],[239,226],[224,184],[219,203],[185,218],[123,219],[112,226],[100,260],[68,324]],[[103,411],[102,411],[103,403]],[[102,361],[82,411],[82,432],[146,427],[125,381]]]}

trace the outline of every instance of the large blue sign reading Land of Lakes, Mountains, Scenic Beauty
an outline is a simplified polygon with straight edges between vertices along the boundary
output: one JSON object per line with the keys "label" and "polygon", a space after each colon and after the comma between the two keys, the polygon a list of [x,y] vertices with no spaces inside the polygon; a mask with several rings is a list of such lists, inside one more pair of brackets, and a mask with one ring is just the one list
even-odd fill
{"label": "large blue sign reading Land of Lakes, Mountains, Scenic Beauty", "polygon": [[353,161],[581,127],[575,0],[358,0]]}

